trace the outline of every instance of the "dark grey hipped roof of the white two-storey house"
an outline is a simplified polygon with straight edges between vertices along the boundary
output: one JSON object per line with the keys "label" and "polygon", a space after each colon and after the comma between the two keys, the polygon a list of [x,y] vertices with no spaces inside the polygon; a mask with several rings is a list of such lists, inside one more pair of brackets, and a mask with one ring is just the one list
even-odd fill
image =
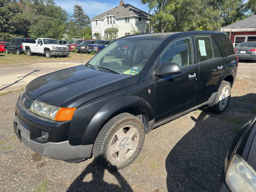
{"label": "dark grey hipped roof of the white two-storey house", "polygon": [[104,13],[99,14],[96,17],[91,18],[91,20],[100,20],[108,15],[115,15],[116,18],[131,17],[131,16],[137,16],[137,17],[143,17],[143,18],[151,17],[151,14],[149,13],[142,11],[130,4],[125,4],[125,5],[118,5],[109,11],[106,11]]}

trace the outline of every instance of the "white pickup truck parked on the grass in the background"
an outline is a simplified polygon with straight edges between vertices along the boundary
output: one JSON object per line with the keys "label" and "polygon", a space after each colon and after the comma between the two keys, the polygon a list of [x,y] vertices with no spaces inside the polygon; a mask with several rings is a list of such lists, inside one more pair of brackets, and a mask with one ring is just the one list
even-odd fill
{"label": "white pickup truck parked on the grass in the background", "polygon": [[36,43],[22,43],[22,47],[28,56],[33,53],[45,54],[47,58],[52,55],[69,55],[68,46],[60,45],[57,40],[51,38],[37,38]]}

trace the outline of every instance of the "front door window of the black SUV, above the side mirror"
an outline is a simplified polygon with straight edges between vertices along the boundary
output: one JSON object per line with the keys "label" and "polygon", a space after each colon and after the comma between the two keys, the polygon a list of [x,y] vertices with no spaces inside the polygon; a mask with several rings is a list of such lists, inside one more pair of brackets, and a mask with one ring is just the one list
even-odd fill
{"label": "front door window of the black SUV, above the side mirror", "polygon": [[161,56],[161,65],[163,63],[173,62],[180,67],[192,65],[192,43],[190,37],[183,37],[172,42]]}

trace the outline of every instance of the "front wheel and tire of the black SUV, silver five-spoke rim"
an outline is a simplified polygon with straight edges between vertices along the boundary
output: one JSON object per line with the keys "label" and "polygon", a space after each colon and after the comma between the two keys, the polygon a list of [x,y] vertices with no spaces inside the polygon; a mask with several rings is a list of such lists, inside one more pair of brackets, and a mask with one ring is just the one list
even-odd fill
{"label": "front wheel and tire of the black SUV, silver five-spoke rim", "polygon": [[144,126],[140,119],[129,113],[122,113],[111,118],[102,127],[92,153],[101,165],[120,170],[137,158],[144,139]]}

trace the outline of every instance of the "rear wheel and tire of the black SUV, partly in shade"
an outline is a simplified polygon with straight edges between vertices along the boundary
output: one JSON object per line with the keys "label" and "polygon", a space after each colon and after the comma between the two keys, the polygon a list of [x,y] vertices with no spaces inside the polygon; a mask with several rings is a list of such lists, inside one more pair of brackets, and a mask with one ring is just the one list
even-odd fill
{"label": "rear wheel and tire of the black SUV, partly in shade", "polygon": [[209,104],[210,109],[215,113],[222,113],[228,107],[231,96],[231,85],[227,81],[222,81],[217,94],[213,101]]}

